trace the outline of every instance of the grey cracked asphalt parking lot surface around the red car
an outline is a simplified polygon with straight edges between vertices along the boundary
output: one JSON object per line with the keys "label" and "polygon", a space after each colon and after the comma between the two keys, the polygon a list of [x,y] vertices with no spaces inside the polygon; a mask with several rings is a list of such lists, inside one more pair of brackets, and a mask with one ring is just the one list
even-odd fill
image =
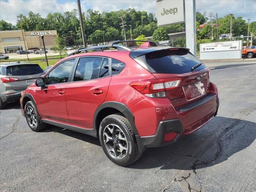
{"label": "grey cracked asphalt parking lot surface around the red car", "polygon": [[0,191],[256,191],[256,61],[209,62],[218,115],[200,130],[119,167],[91,136],[33,132],[18,102],[0,111]]}

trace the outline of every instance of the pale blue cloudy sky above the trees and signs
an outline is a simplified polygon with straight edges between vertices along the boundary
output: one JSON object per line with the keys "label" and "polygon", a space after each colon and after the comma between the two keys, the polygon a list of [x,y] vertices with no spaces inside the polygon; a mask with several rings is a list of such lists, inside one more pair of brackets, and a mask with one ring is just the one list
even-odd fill
{"label": "pale blue cloudy sky above the trees and signs", "polygon": [[[87,9],[110,12],[120,9],[156,12],[156,0],[80,0],[82,12]],[[172,3],[172,0],[169,0]],[[76,0],[0,0],[0,19],[16,24],[19,14],[28,16],[28,12],[39,13],[46,17],[48,13],[71,11],[77,9]],[[218,17],[233,13],[235,17],[250,18],[256,21],[255,0],[196,0],[196,11],[207,14],[212,12]]]}

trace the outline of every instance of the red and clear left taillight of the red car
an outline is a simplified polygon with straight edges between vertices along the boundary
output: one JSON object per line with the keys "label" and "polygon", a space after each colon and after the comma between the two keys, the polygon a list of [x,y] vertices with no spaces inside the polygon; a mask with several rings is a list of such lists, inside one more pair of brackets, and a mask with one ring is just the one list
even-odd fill
{"label": "red and clear left taillight of the red car", "polygon": [[154,79],[130,82],[138,92],[152,98],[166,97],[165,91],[179,86],[180,79]]}

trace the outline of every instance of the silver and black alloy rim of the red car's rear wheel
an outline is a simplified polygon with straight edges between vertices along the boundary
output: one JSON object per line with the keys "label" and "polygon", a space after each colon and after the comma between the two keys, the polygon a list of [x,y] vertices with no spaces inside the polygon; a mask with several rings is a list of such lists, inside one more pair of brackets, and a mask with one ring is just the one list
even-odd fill
{"label": "silver and black alloy rim of the red car's rear wheel", "polygon": [[116,124],[108,124],[103,131],[104,144],[110,155],[123,159],[128,153],[128,143],[122,129]]}

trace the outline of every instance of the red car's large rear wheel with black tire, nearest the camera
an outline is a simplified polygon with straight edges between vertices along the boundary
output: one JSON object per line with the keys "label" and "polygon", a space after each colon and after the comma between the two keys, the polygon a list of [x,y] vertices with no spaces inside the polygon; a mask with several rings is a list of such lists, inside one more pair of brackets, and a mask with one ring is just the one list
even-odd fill
{"label": "red car's large rear wheel with black tire, nearest the camera", "polygon": [[[123,134],[123,136],[125,136],[125,139],[126,139],[125,143],[126,143],[126,149],[127,149],[126,153],[122,154],[123,150],[120,151],[120,148],[119,148],[119,156],[122,156],[122,158],[118,158],[119,156],[116,157],[116,153],[118,153],[118,151],[117,151],[118,149],[114,150],[114,151],[116,151],[116,153],[115,153],[115,152],[112,152],[111,150],[109,150],[111,148],[111,146],[107,146],[107,145],[113,145],[112,148],[114,148],[114,145],[116,144],[116,147],[118,147],[120,145],[119,142],[121,141],[121,140],[118,140],[119,137],[117,138],[118,141],[111,138],[112,140],[106,142],[106,144],[104,142],[104,139],[106,138],[106,135],[104,135],[104,131],[108,131],[107,126],[109,126],[110,124],[111,125],[114,124],[116,126],[115,130],[122,130],[120,132],[121,132],[121,134]],[[109,134],[110,134],[110,132],[109,132]],[[114,134],[117,136],[116,133],[114,133]],[[112,136],[114,136],[114,134]],[[100,137],[100,144],[101,144],[102,149],[105,152],[106,156],[112,162],[114,162],[115,164],[117,164],[119,166],[128,166],[128,165],[132,164],[133,162],[135,162],[136,160],[138,160],[142,155],[142,153],[140,153],[138,150],[136,138],[135,138],[134,132],[132,130],[132,127],[131,127],[129,121],[121,115],[112,114],[112,115],[106,116],[100,123],[99,137]],[[113,144],[112,144],[112,142],[113,142]],[[122,143],[121,145],[123,145],[123,144],[124,143]],[[123,146],[125,146],[125,144]],[[113,154],[115,154],[115,157]]]}

